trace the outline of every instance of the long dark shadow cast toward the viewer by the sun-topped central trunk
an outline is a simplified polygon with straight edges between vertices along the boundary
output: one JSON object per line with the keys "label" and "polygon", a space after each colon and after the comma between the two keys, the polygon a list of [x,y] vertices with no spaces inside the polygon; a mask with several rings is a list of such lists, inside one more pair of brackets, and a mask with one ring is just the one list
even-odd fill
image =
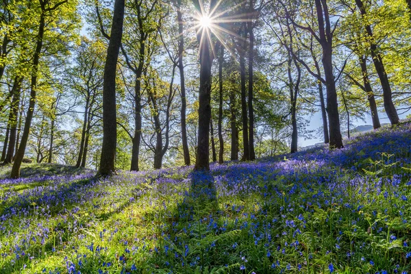
{"label": "long dark shadow cast toward the viewer by the sun-topped central trunk", "polygon": [[210,223],[219,223],[221,215],[214,177],[204,171],[194,171],[188,177],[190,189],[168,212],[158,237],[160,249],[149,258],[151,266],[169,273],[203,273],[198,271],[221,266],[209,252],[220,233],[210,229]]}

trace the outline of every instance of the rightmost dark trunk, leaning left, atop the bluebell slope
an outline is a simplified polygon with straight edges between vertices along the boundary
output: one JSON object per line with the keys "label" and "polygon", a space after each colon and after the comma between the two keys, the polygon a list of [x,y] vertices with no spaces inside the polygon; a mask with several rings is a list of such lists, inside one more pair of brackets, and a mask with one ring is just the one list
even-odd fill
{"label": "rightmost dark trunk, leaning left, atop the bluebell slope", "polygon": [[[361,16],[366,17],[367,14],[364,7],[364,3],[362,3],[361,0],[356,0],[356,4],[360,9]],[[384,109],[386,111],[388,119],[390,119],[391,125],[397,125],[399,123],[399,117],[397,114],[397,110],[395,109],[395,105],[393,103],[393,93],[391,92],[391,86],[388,80],[388,75],[384,68],[384,62],[382,62],[381,54],[377,52],[377,44],[375,44],[375,40],[373,38],[373,31],[371,29],[371,25],[366,25],[365,29],[371,42],[371,57],[373,58],[375,71],[377,71],[379,82],[381,82],[382,86]]]}

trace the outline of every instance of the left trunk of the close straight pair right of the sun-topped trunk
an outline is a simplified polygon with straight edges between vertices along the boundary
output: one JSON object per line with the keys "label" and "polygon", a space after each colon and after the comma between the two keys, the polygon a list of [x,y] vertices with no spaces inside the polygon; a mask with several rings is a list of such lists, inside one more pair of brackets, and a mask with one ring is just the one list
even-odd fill
{"label": "left trunk of the close straight pair right of the sun-topped trunk", "polygon": [[244,52],[240,52],[240,84],[241,84],[241,121],[242,121],[242,161],[248,161],[249,155],[249,134],[248,134],[248,119],[247,119],[247,95],[245,88],[245,56]]}

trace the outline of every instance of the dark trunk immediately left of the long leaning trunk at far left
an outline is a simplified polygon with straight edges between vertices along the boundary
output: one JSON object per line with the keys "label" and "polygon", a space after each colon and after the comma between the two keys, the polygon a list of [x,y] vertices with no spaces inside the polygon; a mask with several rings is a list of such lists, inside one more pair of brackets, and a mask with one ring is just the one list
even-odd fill
{"label": "dark trunk immediately left of the long leaning trunk at far left", "polygon": [[17,116],[18,116],[18,108],[20,107],[20,93],[21,93],[21,82],[23,82],[23,77],[16,77],[14,79],[13,88],[16,89],[14,91],[12,105],[10,108],[10,112],[12,113],[11,121],[10,121],[10,138],[9,138],[9,145],[8,150],[5,155],[4,164],[11,164],[14,155],[14,146],[16,145],[16,135],[17,135]]}

